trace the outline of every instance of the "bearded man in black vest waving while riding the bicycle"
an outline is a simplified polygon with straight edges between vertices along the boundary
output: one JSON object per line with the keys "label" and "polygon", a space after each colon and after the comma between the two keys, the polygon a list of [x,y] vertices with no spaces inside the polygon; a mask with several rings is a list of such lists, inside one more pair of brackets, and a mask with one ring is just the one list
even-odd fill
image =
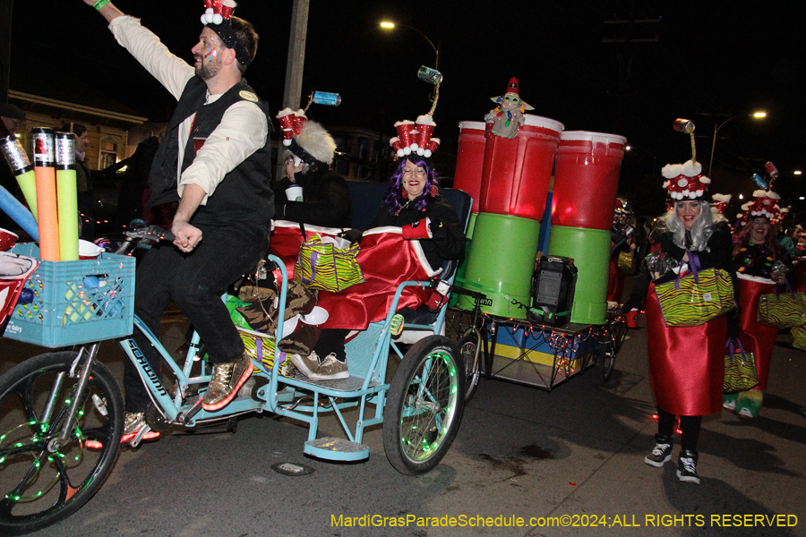
{"label": "bearded man in black vest waving while riding the bicycle", "polygon": [[[178,100],[151,168],[149,202],[178,200],[171,226],[176,248],[157,245],[141,261],[134,312],[157,335],[171,302],[193,323],[213,366],[201,406],[215,411],[253,371],[219,295],[265,254],[274,214],[268,111],[243,78],[258,36],[252,24],[232,16],[235,3],[225,0],[223,9],[217,6],[221,13],[206,16],[190,65],[108,0],[83,2],[104,16],[118,43]],[[159,353],[139,332],[135,340],[159,372]],[[150,404],[139,373],[125,365],[124,440],[145,425]]]}

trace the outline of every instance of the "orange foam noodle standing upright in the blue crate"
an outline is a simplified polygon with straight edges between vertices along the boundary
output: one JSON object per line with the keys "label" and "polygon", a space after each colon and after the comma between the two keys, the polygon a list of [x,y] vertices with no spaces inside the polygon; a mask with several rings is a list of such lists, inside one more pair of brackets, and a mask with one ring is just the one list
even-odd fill
{"label": "orange foam noodle standing upright in the blue crate", "polygon": [[59,223],[56,209],[56,165],[53,130],[31,131],[34,175],[37,180],[39,256],[43,261],[59,260]]}

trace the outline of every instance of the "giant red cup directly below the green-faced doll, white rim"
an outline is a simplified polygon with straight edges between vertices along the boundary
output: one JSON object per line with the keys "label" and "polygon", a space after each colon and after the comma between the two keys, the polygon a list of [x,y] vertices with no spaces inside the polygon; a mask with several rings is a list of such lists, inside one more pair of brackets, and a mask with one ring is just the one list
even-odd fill
{"label": "giant red cup directly below the green-faced doll, white rim", "polygon": [[489,132],[478,210],[540,221],[565,127],[539,115],[524,118],[525,124],[512,140]]}

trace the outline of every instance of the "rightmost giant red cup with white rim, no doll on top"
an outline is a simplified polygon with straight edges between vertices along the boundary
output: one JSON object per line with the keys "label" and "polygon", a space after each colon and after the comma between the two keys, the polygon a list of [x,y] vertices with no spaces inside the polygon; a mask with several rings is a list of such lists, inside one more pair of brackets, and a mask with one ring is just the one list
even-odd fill
{"label": "rightmost giant red cup with white rim, no doll on top", "polygon": [[555,226],[610,229],[627,139],[603,132],[566,131],[554,167]]}

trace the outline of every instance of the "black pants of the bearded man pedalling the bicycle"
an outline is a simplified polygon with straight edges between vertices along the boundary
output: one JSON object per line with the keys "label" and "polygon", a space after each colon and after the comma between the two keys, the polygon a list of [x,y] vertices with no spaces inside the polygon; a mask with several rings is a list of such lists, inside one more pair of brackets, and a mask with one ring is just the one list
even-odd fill
{"label": "black pants of the bearded man pedalling the bicycle", "polygon": [[[159,337],[159,321],[173,302],[199,332],[210,363],[235,362],[244,354],[244,342],[220,295],[257,266],[269,248],[269,232],[258,226],[231,224],[204,228],[202,233],[201,243],[190,253],[171,243],[160,243],[146,253],[137,268],[134,313]],[[159,352],[136,330],[134,340],[159,373]],[[128,360],[124,388],[126,412],[144,412],[150,397]]]}

